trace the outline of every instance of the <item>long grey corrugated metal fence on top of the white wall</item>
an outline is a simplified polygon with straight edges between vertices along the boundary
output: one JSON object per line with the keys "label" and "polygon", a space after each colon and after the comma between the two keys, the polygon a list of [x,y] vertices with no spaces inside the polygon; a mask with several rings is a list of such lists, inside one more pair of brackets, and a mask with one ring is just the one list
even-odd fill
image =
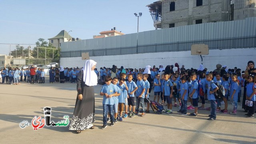
{"label": "long grey corrugated metal fence on top of the white wall", "polygon": [[256,17],[139,32],[138,46],[136,33],[64,42],[61,57],[188,51],[192,44],[208,44],[210,50],[256,47]]}

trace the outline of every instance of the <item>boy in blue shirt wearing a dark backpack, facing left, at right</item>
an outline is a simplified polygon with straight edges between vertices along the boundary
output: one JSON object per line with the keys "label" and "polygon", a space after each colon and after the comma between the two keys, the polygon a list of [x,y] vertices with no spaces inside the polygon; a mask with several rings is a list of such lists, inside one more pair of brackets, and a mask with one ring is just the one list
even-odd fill
{"label": "boy in blue shirt wearing a dark backpack, facing left, at right", "polygon": [[214,84],[212,78],[213,75],[211,73],[206,74],[206,80],[208,81],[207,97],[211,103],[211,114],[209,115],[210,118],[208,118],[208,120],[216,120],[216,98],[214,93],[219,89],[218,86]]}

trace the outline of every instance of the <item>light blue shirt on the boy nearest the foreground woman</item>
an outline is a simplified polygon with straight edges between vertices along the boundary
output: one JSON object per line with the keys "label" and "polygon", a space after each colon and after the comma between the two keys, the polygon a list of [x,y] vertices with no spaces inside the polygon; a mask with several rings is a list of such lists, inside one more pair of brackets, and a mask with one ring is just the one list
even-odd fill
{"label": "light blue shirt on the boy nearest the foreground woman", "polygon": [[[100,90],[100,92],[107,93],[108,95],[116,93],[118,90],[114,84],[104,84]],[[105,95],[103,96],[102,104],[114,105],[114,96],[111,98],[107,98]]]}

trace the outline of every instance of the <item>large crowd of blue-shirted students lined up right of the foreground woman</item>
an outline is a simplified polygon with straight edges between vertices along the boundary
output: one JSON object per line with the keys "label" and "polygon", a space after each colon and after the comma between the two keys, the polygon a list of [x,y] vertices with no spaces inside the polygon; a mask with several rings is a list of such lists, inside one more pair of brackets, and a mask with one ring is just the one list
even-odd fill
{"label": "large crowd of blue-shirted students lined up right of the foreground woman", "polygon": [[[117,120],[123,118],[133,118],[140,114],[145,116],[149,113],[149,94],[154,87],[154,100],[159,103],[161,98],[162,104],[166,109],[163,112],[172,114],[172,100],[174,106],[178,106],[180,115],[187,115],[187,110],[194,110],[189,116],[197,116],[198,110],[210,110],[208,120],[216,120],[216,112],[228,114],[228,101],[233,106],[229,114],[236,114],[238,102],[240,102],[241,88],[244,87],[244,96],[242,108],[246,112],[246,118],[254,118],[256,109],[256,69],[254,62],[249,61],[245,71],[241,69],[226,69],[226,66],[216,65],[216,70],[208,72],[207,68],[200,65],[198,69],[185,69],[174,66],[163,66],[160,68],[151,68],[146,66],[139,70],[127,68],[120,69],[100,68],[100,79],[105,84],[100,90],[103,96],[103,126],[106,128],[107,122],[111,121],[113,126]],[[115,66],[113,66],[114,68]],[[108,72],[112,71],[112,72]],[[113,74],[116,74],[112,78]],[[97,72],[96,72],[97,74]],[[152,81],[149,81],[149,78]],[[222,90],[221,90],[222,89]],[[222,93],[223,96],[218,98],[217,95]],[[134,101],[136,100],[136,106]],[[209,101],[210,107],[205,108],[206,100]],[[191,105],[187,106],[190,102]],[[202,102],[202,106],[198,106]],[[249,103],[249,104],[248,104]],[[224,108],[221,109],[221,104]],[[141,110],[140,110],[141,107]],[[125,108],[125,110],[124,110]],[[122,112],[124,116],[122,116]],[[129,111],[129,112],[128,112]]]}

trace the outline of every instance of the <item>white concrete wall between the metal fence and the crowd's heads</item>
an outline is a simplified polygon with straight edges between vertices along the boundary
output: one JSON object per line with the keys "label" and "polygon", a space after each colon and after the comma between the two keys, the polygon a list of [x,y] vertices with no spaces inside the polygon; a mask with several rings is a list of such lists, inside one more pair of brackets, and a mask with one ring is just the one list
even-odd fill
{"label": "white concrete wall between the metal fence and the crowd's heads", "polygon": [[[191,56],[190,51],[184,52],[158,52],[146,54],[128,54],[116,56],[90,56],[90,59],[97,62],[96,68],[109,67],[112,65],[124,66],[124,68],[144,68],[147,65],[174,65],[176,62],[185,68],[198,68],[201,64],[200,56]],[[225,50],[210,50],[209,55],[203,56],[203,65],[209,71],[216,69],[216,64],[226,65],[227,68],[235,66],[246,69],[247,62],[256,62],[256,48],[237,48]],[[60,66],[64,67],[83,67],[84,60],[81,57],[60,58]]]}

